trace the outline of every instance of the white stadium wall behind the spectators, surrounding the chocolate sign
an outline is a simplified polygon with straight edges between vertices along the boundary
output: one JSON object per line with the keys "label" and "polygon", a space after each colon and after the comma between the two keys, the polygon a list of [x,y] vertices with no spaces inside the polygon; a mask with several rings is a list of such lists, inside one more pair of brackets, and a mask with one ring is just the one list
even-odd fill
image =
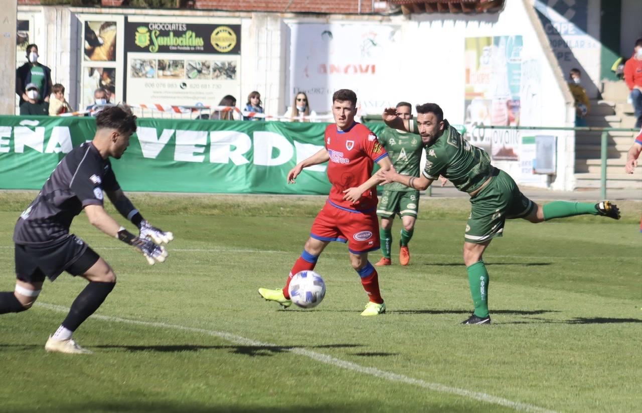
{"label": "white stadium wall behind the spectators, surrounding the chocolate sign", "polygon": [[[401,15],[19,7],[19,19],[31,22],[33,42],[46,45],[40,46],[42,62],[51,67],[54,82],[67,86],[74,107],[86,103],[82,71],[88,65],[96,66],[83,58],[83,21],[121,21],[125,16],[135,16],[150,21],[160,17],[164,21],[235,23],[240,26],[241,45],[239,82],[232,94],[238,106],[245,103],[250,91],[257,90],[266,112],[279,115],[291,104],[293,93],[304,90],[312,109],[323,113],[329,110],[331,93],[340,87],[358,92],[360,114],[379,113],[400,100],[435,101],[451,123],[467,123],[468,138],[492,152],[494,163],[517,182],[573,189],[573,133],[537,133],[557,137],[557,173],[534,175],[532,157],[526,159],[521,152],[524,138],[535,134],[483,132],[474,127],[498,122],[573,125],[563,76],[551,61],[550,47],[542,38],[542,24],[533,13],[528,0],[507,2],[505,10],[494,15],[431,14],[413,15],[411,19]],[[120,27],[118,30],[115,61],[103,66],[116,69],[116,94],[123,96],[125,32]],[[511,45],[511,62],[498,52],[506,51],[507,44]],[[492,62],[499,65],[494,69],[501,71],[493,69],[491,78],[484,78],[480,72],[478,82],[471,82],[471,67],[487,52],[498,56]],[[313,64],[309,64],[311,59]],[[492,73],[503,75],[493,78]],[[501,91],[496,92],[498,89]],[[483,100],[482,104],[471,108],[471,96]],[[220,98],[213,92],[211,100],[202,103],[216,105]],[[134,100],[130,93],[129,103],[163,103]],[[483,114],[479,116],[479,112]]]}

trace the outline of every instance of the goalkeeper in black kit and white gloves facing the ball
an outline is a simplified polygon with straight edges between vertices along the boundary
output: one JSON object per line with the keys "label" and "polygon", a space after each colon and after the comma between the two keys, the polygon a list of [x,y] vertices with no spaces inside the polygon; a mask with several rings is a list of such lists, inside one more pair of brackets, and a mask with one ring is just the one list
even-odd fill
{"label": "goalkeeper in black kit and white gloves facing the ball", "polygon": [[[46,351],[91,353],[78,346],[73,332],[94,313],[116,285],[114,270],[83,240],[69,234],[73,218],[84,209],[92,225],[141,252],[148,263],[165,261],[160,243],[173,239],[150,225],[121,190],[109,157],[120,159],[136,131],[136,117],[123,106],[100,111],[96,135],[74,148],[58,163],[38,196],[18,218],[15,242],[15,290],[0,292],[0,314],[17,313],[35,303],[45,278],[54,281],[63,271],[89,281],[71,304],[62,325],[45,344]],[[121,215],[140,229],[138,235],[107,215],[103,193]]]}

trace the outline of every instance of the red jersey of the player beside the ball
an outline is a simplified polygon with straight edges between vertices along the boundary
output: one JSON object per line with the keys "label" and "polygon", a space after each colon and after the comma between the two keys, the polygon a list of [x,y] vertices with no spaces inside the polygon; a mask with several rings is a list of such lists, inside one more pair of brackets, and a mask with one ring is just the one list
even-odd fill
{"label": "red jersey of the player beside the ball", "polygon": [[369,180],[374,163],[388,156],[377,136],[361,123],[355,122],[345,131],[337,130],[332,124],[325,128],[325,149],[330,154],[327,166],[327,177],[332,184],[330,204],[352,211],[374,211],[377,207],[376,187],[365,191],[356,204],[343,200],[343,191]]}

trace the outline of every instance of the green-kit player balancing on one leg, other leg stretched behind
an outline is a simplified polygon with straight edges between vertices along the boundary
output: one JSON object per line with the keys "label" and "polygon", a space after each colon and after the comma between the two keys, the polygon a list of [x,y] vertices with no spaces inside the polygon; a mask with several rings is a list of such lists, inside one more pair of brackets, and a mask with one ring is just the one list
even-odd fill
{"label": "green-kit player balancing on one leg, other leg stretched behind", "polygon": [[620,219],[618,207],[610,201],[597,204],[555,201],[544,206],[526,198],[515,181],[490,164],[489,155],[471,145],[444,119],[435,103],[417,106],[417,122],[404,120],[396,109],[383,112],[391,128],[421,135],[426,145],[426,168],[421,177],[408,177],[395,171],[379,171],[384,182],[399,182],[424,190],[439,175],[471,196],[471,215],[464,234],[464,263],[473,296],[474,312],[462,324],[490,324],[488,311],[489,277],[482,255],[492,238],[502,236],[507,219],[524,218],[533,223],[575,215],[602,215]]}

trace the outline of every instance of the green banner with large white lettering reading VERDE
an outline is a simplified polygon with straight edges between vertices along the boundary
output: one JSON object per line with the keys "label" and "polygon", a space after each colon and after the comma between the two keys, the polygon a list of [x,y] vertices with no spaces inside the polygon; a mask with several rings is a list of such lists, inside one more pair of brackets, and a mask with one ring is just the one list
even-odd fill
{"label": "green banner with large white lettering reading VERDE", "polygon": [[[286,175],[323,147],[326,123],[138,119],[112,159],[125,191],[327,194],[325,164]],[[379,133],[384,125],[369,125]],[[0,116],[0,189],[40,189],[73,147],[94,137],[93,118]]]}

